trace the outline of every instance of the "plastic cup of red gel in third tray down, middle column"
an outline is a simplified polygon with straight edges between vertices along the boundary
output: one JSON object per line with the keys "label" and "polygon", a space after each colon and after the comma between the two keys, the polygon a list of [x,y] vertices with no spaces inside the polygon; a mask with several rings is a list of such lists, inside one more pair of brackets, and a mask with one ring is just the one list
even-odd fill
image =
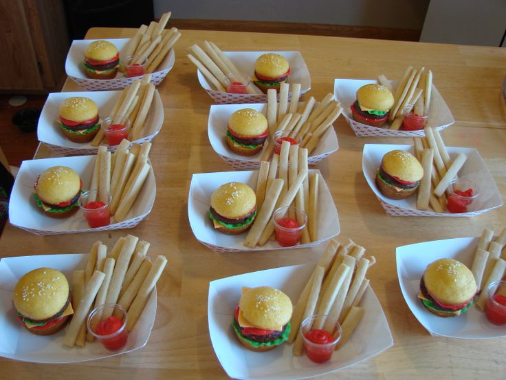
{"label": "plastic cup of red gel in third tray down, middle column", "polygon": [[294,246],[307,224],[307,215],[296,207],[280,207],[274,211],[274,233],[281,246]]}

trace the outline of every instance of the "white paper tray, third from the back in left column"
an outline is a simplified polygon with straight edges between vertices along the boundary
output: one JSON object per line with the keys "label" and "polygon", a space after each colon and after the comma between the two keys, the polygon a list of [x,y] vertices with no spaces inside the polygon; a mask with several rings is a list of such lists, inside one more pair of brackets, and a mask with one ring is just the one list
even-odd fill
{"label": "white paper tray, third from the back in left column", "polygon": [[55,219],[45,215],[37,206],[34,198],[34,183],[45,169],[58,165],[71,167],[79,174],[83,181],[83,189],[86,190],[91,182],[95,157],[75,156],[23,161],[10,196],[10,223],[35,235],[131,229],[137,226],[151,212],[155,202],[156,184],[153,167],[149,170],[148,178],[123,222],[91,229],[80,210],[68,218]]}

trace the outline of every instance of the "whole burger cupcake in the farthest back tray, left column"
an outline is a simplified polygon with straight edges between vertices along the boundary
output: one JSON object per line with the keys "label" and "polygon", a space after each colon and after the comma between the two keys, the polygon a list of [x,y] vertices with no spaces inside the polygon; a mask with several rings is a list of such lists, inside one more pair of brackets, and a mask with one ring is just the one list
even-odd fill
{"label": "whole burger cupcake in the farthest back tray, left column", "polygon": [[109,41],[94,41],[86,47],[83,68],[88,78],[112,79],[119,65],[120,53]]}

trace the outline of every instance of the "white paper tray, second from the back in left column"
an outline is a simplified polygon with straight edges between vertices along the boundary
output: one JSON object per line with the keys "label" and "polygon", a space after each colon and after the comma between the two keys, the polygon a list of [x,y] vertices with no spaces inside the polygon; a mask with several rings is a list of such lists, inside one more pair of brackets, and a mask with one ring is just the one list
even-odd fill
{"label": "white paper tray, second from the back in left column", "polygon": [[[97,154],[98,147],[94,147],[90,142],[72,142],[69,140],[63,132],[61,127],[56,123],[56,118],[59,116],[59,108],[61,102],[67,98],[74,96],[83,96],[90,98],[98,106],[98,116],[100,119],[107,118],[109,112],[113,108],[114,104],[120,96],[120,91],[96,91],[96,92],[53,92],[47,97],[44,107],[42,109],[41,117],[39,118],[39,124],[37,125],[37,138],[40,142],[44,142],[57,151],[63,156],[71,155],[85,155],[85,154]],[[144,122],[144,131],[146,132],[142,138],[132,141],[142,144],[145,141],[151,141],[158,132],[162,129],[164,124],[164,105],[162,104],[162,98],[157,89],[155,89],[155,96],[153,98],[153,104],[149,109],[148,116]],[[105,144],[102,142],[102,145]],[[115,151],[118,145],[108,147],[109,151]]]}

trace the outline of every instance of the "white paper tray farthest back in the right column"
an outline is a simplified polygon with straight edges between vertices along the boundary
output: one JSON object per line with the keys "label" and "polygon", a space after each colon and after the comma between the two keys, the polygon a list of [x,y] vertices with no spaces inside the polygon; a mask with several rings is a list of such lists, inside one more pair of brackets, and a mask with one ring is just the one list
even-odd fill
{"label": "white paper tray farthest back in the right column", "polygon": [[[397,84],[395,81],[391,81]],[[347,120],[355,135],[360,137],[366,136],[388,136],[388,137],[410,137],[410,136],[425,136],[423,129],[421,131],[395,131],[388,129],[388,127],[380,128],[371,125],[358,123],[353,119],[351,114],[351,105],[357,100],[357,90],[363,85],[369,83],[377,83],[371,79],[334,79],[334,97],[341,102],[343,112],[342,115]],[[390,125],[390,122],[387,122]],[[455,123],[452,112],[446,105],[436,86],[432,84],[432,96],[430,103],[429,118],[427,120],[427,127],[436,127],[441,131],[446,127],[450,127]]]}

